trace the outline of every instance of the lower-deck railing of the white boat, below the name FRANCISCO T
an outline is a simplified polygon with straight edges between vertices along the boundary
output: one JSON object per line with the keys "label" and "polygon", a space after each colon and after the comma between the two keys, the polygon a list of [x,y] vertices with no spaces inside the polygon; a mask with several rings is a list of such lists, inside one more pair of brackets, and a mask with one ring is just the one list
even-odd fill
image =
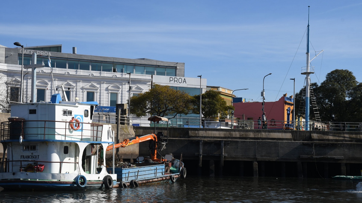
{"label": "lower-deck railing of the white boat, below the name FRANCISCO T", "polygon": [[[12,165],[9,163],[14,163],[14,162],[20,162],[20,165]],[[70,162],[70,161],[31,161],[31,160],[3,160],[0,162],[1,166],[5,166],[5,167],[1,167],[1,169],[5,171],[1,171],[1,172],[9,172],[10,171],[10,165],[12,165],[12,172],[14,171],[14,167],[19,167],[19,172],[29,172],[26,171],[26,166],[28,166],[29,164],[31,164],[31,167],[33,167],[33,171],[30,172],[34,172],[34,173],[38,173],[39,172],[39,163],[51,163],[51,164],[57,164],[59,163],[59,173],[62,173],[62,164],[77,164],[77,167],[79,168],[79,162]],[[45,166],[46,167],[46,166]]]}

